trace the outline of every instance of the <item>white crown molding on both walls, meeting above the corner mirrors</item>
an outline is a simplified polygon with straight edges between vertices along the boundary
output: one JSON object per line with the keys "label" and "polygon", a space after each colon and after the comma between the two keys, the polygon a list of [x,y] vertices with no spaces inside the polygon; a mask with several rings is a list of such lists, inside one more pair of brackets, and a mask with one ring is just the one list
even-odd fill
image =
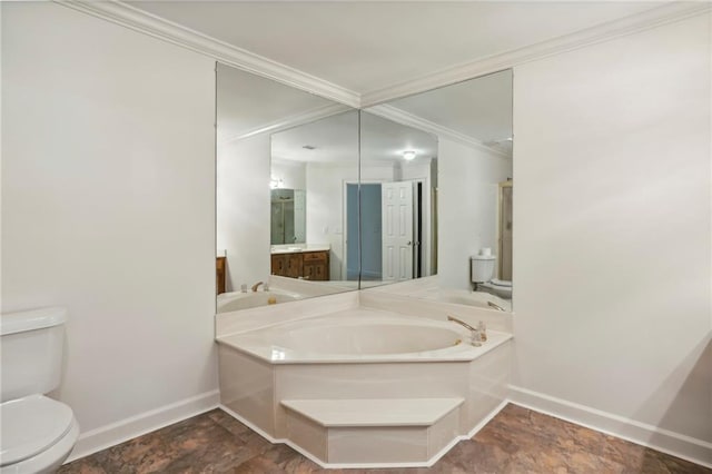
{"label": "white crown molding on both walls, meeting above the corner mirrors", "polygon": [[370,107],[413,93],[424,92],[497,72],[550,56],[680,21],[712,10],[712,4],[706,1],[672,1],[649,11],[609,21],[571,34],[524,48],[477,58],[425,76],[409,78],[408,80],[387,87],[359,93],[289,66],[255,55],[248,50],[237,48],[200,33],[199,31],[165,20],[119,0],[53,1],[58,4],[208,56],[225,65],[274,79],[297,89],[316,93],[355,108]]}

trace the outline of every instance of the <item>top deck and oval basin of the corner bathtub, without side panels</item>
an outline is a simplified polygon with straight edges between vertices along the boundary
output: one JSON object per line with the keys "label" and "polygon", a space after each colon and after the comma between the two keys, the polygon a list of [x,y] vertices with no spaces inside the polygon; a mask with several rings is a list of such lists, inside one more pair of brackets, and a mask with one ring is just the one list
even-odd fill
{"label": "top deck and oval basin of the corner bathtub, without side panels", "polygon": [[[472,322],[473,324],[475,322]],[[218,337],[273,364],[472,361],[511,335],[488,332],[481,347],[449,322],[356,308]]]}

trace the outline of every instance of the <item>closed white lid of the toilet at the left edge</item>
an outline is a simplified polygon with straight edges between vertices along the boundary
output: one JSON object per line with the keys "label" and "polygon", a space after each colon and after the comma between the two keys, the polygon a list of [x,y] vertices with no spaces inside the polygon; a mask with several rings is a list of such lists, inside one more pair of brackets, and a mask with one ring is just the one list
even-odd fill
{"label": "closed white lid of the toilet at the left edge", "polygon": [[57,443],[70,429],[71,408],[43,395],[0,404],[0,466],[19,463]]}

